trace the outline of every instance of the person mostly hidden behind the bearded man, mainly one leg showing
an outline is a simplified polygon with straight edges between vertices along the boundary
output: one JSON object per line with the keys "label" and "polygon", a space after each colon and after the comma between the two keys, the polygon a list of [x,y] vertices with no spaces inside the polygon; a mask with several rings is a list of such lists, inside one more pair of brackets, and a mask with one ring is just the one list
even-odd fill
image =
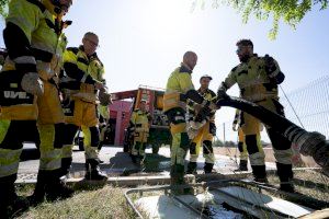
{"label": "person mostly hidden behind the bearded man, mainly one leg showing", "polygon": [[[239,162],[239,168],[235,170],[236,172],[238,171],[248,171],[248,151],[247,151],[247,145],[245,141],[245,134],[242,131],[241,126],[243,122],[240,120],[240,111],[236,111],[236,116],[232,123],[232,130],[238,131],[238,150],[240,152],[240,162]],[[261,143],[261,138],[260,138],[260,131],[262,130],[262,125],[257,123],[257,125],[260,125],[259,131],[257,134],[257,147],[258,150],[261,153],[264,153],[263,147]],[[237,128],[238,127],[238,128]]]}

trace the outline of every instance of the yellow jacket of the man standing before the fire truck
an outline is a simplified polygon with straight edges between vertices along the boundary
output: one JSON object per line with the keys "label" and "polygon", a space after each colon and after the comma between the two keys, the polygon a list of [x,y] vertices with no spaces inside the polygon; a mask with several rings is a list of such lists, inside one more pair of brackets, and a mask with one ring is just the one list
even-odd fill
{"label": "yellow jacket of the man standing before the fire truck", "polygon": [[136,132],[148,132],[149,130],[149,118],[148,112],[135,110],[131,117],[131,127],[135,128]]}

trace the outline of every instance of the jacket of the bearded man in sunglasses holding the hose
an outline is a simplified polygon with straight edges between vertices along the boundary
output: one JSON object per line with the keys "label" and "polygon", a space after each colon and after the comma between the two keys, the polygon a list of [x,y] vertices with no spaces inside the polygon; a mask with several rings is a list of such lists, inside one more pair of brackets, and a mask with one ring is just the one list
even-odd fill
{"label": "jacket of the bearded man in sunglasses holding the hose", "polygon": [[277,84],[283,81],[283,79],[277,80],[277,78],[282,78],[284,74],[281,72],[277,62],[273,61],[275,67],[269,72],[265,67],[265,59],[254,55],[248,62],[241,62],[235,67],[222,83],[222,87],[227,90],[238,83],[240,96],[256,103],[266,99],[277,100]]}

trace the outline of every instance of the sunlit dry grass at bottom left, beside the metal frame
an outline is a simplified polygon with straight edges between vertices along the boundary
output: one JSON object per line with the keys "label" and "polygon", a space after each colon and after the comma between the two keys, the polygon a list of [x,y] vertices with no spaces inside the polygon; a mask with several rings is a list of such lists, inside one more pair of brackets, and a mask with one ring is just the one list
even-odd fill
{"label": "sunlit dry grass at bottom left, beside the metal frame", "polygon": [[[32,189],[31,186],[23,186],[19,188],[19,194],[31,194]],[[37,207],[30,208],[19,218],[135,218],[123,194],[123,188],[107,185],[93,191],[78,191],[71,198],[54,203],[45,201]]]}

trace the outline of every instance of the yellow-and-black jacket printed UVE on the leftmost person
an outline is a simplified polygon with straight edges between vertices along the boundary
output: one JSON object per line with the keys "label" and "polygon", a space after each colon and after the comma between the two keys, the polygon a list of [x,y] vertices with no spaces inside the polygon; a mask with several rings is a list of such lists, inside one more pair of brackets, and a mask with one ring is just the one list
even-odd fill
{"label": "yellow-and-black jacket printed UVE on the leftmost person", "polygon": [[9,2],[3,31],[9,57],[0,73],[1,119],[36,119],[36,97],[21,89],[22,77],[38,72],[42,80],[55,83],[60,70],[64,22],[46,8],[46,2]]}

